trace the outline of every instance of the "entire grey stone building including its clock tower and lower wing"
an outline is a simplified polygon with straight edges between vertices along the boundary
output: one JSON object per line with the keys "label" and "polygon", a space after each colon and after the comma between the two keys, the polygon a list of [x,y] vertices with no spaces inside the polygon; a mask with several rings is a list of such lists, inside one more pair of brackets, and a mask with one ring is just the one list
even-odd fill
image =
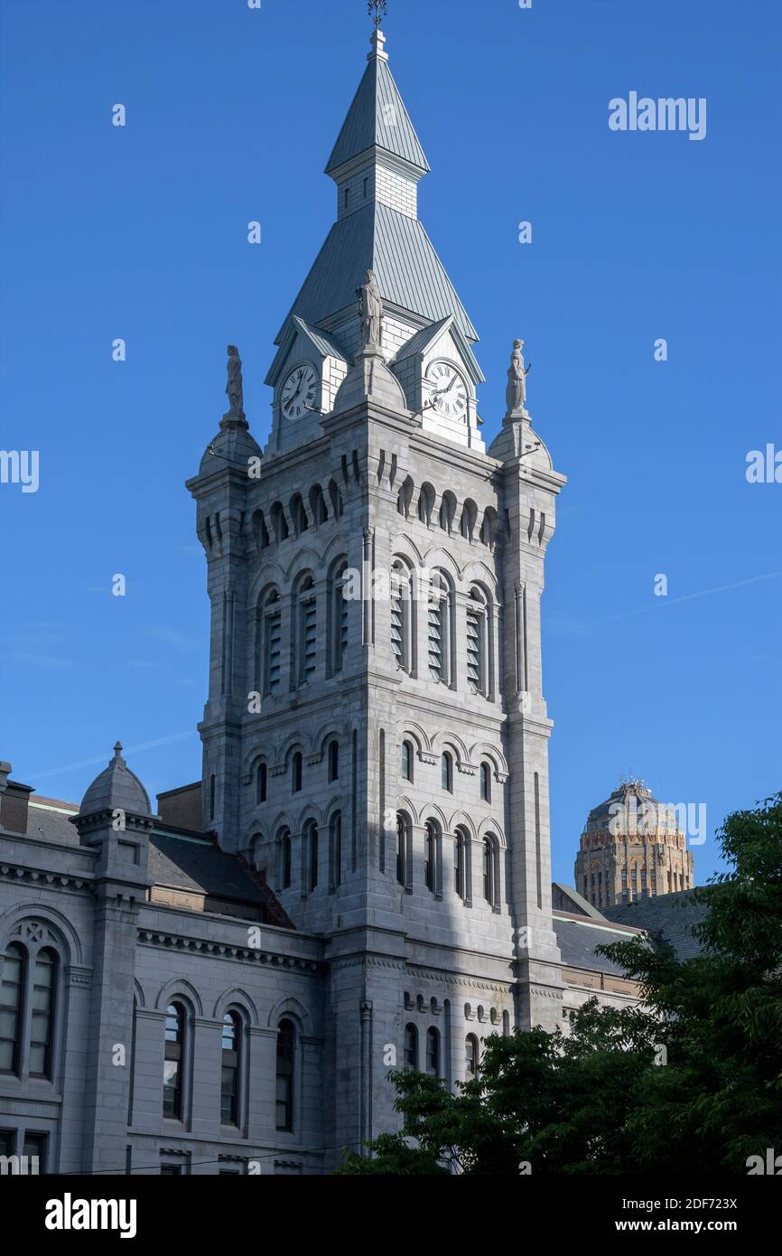
{"label": "entire grey stone building including its clock tower and lower wing", "polygon": [[78,808],[0,771],[0,1153],[49,1172],[321,1173],[400,1128],[394,1065],[456,1086],[491,1032],[635,993],[590,960],[623,931],[552,908],[540,615],[565,477],[521,342],[485,447],[380,31],[326,172],[269,441],[231,348],[188,482],[202,780],[153,813],[119,745]]}

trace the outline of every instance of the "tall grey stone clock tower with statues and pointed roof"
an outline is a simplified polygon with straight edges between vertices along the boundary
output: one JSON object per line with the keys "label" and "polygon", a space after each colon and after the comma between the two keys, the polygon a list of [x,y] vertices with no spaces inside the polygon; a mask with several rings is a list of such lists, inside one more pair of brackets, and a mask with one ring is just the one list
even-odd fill
{"label": "tall grey stone clock tower with statues and pointed roof", "polygon": [[188,485],[203,825],[325,938],[331,1147],[398,1128],[394,1063],[454,1085],[495,1029],[557,1024],[562,992],[540,615],[565,477],[520,343],[486,450],[477,333],[418,219],[429,166],[384,43],[326,166],[336,221],[276,339],[269,441],[232,354]]}

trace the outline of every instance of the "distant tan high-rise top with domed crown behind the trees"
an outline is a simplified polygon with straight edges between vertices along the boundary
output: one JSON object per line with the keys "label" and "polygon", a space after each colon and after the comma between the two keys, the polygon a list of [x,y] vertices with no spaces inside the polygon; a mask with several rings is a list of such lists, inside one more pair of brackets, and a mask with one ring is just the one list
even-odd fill
{"label": "distant tan high-rise top with domed crown behind the trees", "polygon": [[643,781],[623,782],[589,813],[575,875],[592,907],[692,889],[693,854],[675,808],[658,803]]}

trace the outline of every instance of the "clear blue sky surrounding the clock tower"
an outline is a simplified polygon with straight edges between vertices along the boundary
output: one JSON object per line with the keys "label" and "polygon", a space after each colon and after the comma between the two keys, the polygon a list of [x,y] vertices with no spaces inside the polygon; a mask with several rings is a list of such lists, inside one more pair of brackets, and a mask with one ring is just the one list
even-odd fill
{"label": "clear blue sky surrounding the clock tower", "polygon": [[[782,6],[389,10],[432,165],[420,215],[481,334],[486,430],[523,335],[530,409],[570,479],[544,599],[555,874],[571,880],[589,808],[633,769],[707,804],[703,882],[723,816],[781,780],[782,485],[744,470],[782,448]],[[267,432],[262,381],[334,219],[321,171],[367,5],[0,0],[0,447],[40,451],[36,494],[0,486],[0,757],[78,800],[119,737],[154,794],[201,764],[207,599],[183,481],[225,408],[227,343]],[[705,97],[705,139],[610,132],[630,90]]]}

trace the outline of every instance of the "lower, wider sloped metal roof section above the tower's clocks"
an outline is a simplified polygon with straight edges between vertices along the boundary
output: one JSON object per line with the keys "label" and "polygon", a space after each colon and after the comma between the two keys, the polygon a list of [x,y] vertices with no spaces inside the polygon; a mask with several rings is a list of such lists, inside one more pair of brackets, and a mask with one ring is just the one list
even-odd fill
{"label": "lower, wider sloped metal roof section above the tower's clocks", "polygon": [[[453,314],[468,340],[478,339],[423,224],[388,205],[370,202],[334,224],[289,318],[323,323],[355,305],[355,293],[374,270],[384,301],[437,323]],[[284,327],[285,327],[284,324]],[[276,344],[280,343],[280,332]]]}

